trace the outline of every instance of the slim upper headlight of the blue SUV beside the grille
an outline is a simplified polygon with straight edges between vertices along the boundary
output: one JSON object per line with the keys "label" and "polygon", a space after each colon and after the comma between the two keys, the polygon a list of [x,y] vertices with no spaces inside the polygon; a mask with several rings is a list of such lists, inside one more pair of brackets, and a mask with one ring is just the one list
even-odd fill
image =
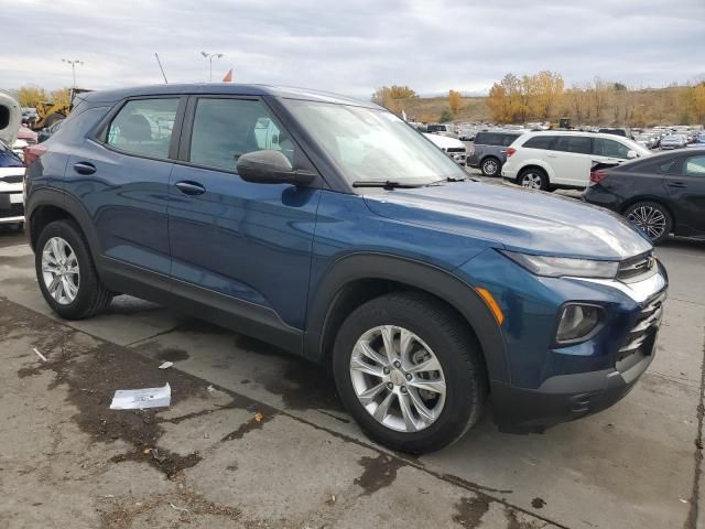
{"label": "slim upper headlight of the blue SUV beside the grille", "polygon": [[617,261],[594,261],[590,259],[572,259],[568,257],[532,256],[516,251],[501,250],[516,263],[536,276],[560,278],[575,276],[578,278],[615,279],[619,263]]}

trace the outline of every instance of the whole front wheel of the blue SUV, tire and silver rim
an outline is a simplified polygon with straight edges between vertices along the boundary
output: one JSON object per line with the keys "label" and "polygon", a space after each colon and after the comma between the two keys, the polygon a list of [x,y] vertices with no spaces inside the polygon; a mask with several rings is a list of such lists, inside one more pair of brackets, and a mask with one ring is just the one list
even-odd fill
{"label": "whole front wheel of the blue SUV, tire and silver rim", "polygon": [[373,440],[427,453],[480,417],[487,379],[479,347],[457,314],[422,293],[392,293],[343,324],[333,368],[340,399]]}

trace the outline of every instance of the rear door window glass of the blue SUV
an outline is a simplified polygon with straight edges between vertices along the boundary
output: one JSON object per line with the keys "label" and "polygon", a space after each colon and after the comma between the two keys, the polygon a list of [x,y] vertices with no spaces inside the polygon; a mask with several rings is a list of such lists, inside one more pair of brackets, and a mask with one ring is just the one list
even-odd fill
{"label": "rear door window glass of the blue SUV", "polygon": [[121,151],[169,158],[178,99],[128,101],[110,122],[106,142]]}

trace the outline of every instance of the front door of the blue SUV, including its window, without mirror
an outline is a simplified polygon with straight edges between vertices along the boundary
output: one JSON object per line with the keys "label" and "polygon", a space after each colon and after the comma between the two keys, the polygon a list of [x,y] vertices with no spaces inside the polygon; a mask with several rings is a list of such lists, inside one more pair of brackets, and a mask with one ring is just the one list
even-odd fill
{"label": "front door of the blue SUV, including its window, without mirror", "polygon": [[174,292],[246,322],[303,330],[321,181],[250,183],[236,164],[275,149],[296,169],[314,168],[260,98],[194,96],[186,116],[170,184]]}

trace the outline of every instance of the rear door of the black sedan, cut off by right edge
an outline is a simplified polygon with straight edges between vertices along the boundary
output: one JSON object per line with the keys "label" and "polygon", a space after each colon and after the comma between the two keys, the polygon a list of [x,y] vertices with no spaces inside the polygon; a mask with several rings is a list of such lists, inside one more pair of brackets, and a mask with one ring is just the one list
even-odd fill
{"label": "rear door of the black sedan, cut off by right edge", "polygon": [[705,154],[683,156],[680,169],[665,176],[682,235],[705,235]]}

